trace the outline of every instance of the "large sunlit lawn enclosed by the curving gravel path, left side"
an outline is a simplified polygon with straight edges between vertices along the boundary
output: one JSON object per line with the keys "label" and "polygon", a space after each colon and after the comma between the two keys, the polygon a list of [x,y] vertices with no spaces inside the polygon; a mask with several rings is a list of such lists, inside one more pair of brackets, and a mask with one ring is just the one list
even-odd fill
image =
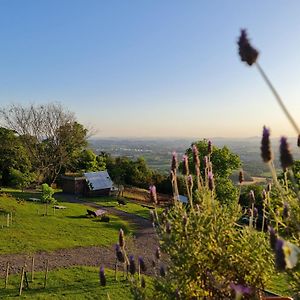
{"label": "large sunlit lawn enclosed by the curving gravel path, left side", "polygon": [[[32,196],[32,195],[30,195]],[[37,195],[33,195],[38,198]],[[67,209],[56,210],[44,216],[45,205],[17,201],[14,197],[0,196],[0,254],[34,253],[45,250],[78,246],[112,245],[123,228],[130,232],[129,224],[110,215],[103,223],[86,217],[87,207],[81,204],[62,203]],[[7,228],[7,213],[13,213],[13,224]]]}

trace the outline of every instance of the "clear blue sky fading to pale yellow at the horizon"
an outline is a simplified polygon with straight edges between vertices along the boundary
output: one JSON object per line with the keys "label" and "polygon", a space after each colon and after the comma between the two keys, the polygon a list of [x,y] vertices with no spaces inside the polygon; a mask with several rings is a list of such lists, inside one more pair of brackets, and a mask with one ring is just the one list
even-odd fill
{"label": "clear blue sky fading to pale yellow at the horizon", "polygon": [[102,137],[294,135],[236,41],[300,122],[299,1],[0,0],[0,103],[60,102]]}

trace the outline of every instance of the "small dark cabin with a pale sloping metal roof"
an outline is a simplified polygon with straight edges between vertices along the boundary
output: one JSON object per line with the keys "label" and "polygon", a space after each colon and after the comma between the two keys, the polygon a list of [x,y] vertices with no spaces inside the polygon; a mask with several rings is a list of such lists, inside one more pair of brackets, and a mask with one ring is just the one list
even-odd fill
{"label": "small dark cabin with a pale sloping metal roof", "polygon": [[83,176],[61,177],[64,193],[83,195],[86,197],[108,196],[113,187],[113,182],[107,171],[88,172]]}

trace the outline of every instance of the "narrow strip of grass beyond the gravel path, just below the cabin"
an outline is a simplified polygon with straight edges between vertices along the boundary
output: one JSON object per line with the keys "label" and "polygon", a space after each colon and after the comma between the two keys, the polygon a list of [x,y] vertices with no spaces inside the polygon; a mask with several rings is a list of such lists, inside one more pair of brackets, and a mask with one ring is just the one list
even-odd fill
{"label": "narrow strip of grass beyond the gravel path, just below the cabin", "polygon": [[[141,204],[130,202],[127,199],[125,200],[126,205],[119,205],[117,199],[114,197],[91,197],[91,198],[83,198],[80,200],[94,202],[101,206],[109,206],[114,207],[116,209],[138,215],[140,217],[149,219],[150,218],[150,209],[147,207],[143,207]],[[152,207],[151,203],[145,203],[145,205]],[[158,212],[162,211],[161,208],[158,209]]]}

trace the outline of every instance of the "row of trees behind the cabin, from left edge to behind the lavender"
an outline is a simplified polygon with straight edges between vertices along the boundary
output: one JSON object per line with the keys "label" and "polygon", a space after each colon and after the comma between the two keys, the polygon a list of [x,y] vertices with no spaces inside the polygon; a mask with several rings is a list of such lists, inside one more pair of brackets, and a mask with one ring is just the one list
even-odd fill
{"label": "row of trees behind the cabin, from left edge to behind the lavender", "polygon": [[[11,105],[0,109],[0,180],[3,186],[26,188],[31,184],[54,183],[59,175],[108,170],[116,185],[148,189],[156,185],[161,193],[172,193],[170,176],[152,170],[144,158],[112,157],[102,152],[96,155],[88,148],[89,131],[79,124],[73,113],[61,105]],[[240,167],[240,158],[227,147],[218,148],[207,140],[194,142],[199,152],[201,173],[211,169],[221,201],[231,201],[237,189],[229,179]],[[190,175],[194,176],[192,146],[186,150]],[[211,166],[205,165],[209,157]],[[170,157],[171,164],[171,157]],[[179,170],[181,169],[179,162]],[[170,166],[171,167],[171,166]],[[179,192],[186,194],[179,176]]]}

